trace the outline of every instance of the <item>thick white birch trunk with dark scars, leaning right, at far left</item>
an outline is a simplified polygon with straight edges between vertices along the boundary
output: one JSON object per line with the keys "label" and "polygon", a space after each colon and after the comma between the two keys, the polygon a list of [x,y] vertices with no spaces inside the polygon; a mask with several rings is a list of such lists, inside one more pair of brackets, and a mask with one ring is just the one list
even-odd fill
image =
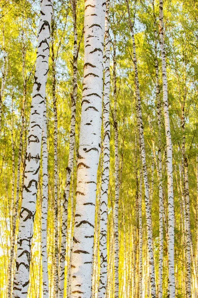
{"label": "thick white birch trunk with dark scars, leaning right, at far left", "polygon": [[43,0],[38,30],[37,64],[32,94],[22,206],[17,240],[13,297],[26,298],[29,285],[31,244],[36,212],[37,186],[43,128],[44,100],[49,71],[49,39],[53,0]]}

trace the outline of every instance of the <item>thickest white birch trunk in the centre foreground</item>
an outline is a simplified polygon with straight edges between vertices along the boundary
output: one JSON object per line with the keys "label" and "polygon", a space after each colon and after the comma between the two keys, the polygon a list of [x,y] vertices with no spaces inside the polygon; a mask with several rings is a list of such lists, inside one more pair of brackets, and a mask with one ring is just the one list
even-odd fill
{"label": "thickest white birch trunk in the centre foreground", "polygon": [[91,297],[106,2],[85,2],[85,58],[77,164],[76,214],[71,255],[71,298]]}

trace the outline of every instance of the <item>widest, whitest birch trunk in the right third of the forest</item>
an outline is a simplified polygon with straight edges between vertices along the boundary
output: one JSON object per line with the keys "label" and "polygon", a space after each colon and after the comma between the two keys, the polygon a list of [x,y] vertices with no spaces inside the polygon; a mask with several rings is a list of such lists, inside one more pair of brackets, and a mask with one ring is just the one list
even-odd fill
{"label": "widest, whitest birch trunk in the right third of the forest", "polygon": [[159,1],[159,40],[162,61],[162,82],[163,82],[163,109],[167,148],[167,187],[168,187],[168,275],[170,297],[175,298],[175,273],[174,273],[174,197],[173,197],[173,160],[172,141],[170,131],[170,119],[168,110],[168,83],[166,73],[166,53],[164,45],[163,29],[163,0]]}

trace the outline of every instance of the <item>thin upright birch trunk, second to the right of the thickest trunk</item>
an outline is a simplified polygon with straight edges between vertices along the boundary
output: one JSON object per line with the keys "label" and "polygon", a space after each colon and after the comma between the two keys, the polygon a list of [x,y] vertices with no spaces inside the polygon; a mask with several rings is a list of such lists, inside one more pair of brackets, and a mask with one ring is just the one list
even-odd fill
{"label": "thin upright birch trunk, second to the right of the thickest trunk", "polygon": [[116,36],[113,41],[113,99],[114,99],[114,133],[115,133],[115,206],[114,206],[114,279],[115,298],[119,296],[119,232],[118,232],[118,208],[119,208],[119,156],[118,156],[118,125],[117,125],[117,86],[116,86]]}

